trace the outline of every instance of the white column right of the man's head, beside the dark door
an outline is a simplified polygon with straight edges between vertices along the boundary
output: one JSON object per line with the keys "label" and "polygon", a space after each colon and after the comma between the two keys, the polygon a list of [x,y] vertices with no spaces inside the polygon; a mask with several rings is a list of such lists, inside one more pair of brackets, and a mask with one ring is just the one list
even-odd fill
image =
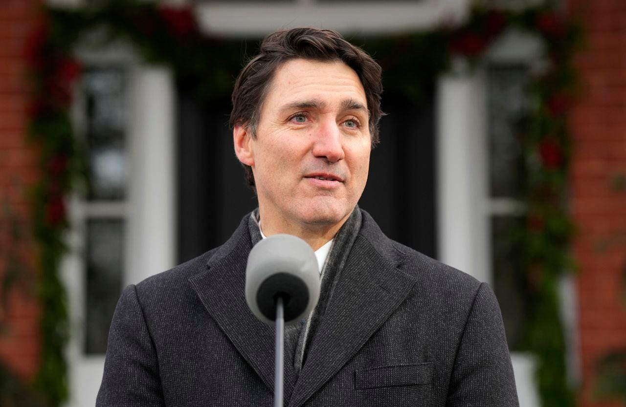
{"label": "white column right of the man's head, beside the dark door", "polygon": [[443,263],[490,282],[483,83],[464,75],[438,81],[438,247]]}

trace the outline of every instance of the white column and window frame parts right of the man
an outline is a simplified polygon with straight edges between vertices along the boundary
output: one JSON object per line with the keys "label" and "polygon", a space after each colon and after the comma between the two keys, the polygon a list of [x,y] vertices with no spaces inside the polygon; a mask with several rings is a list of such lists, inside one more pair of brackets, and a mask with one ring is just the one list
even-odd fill
{"label": "white column and window frame parts right of the man", "polygon": [[[531,64],[540,68],[541,43],[515,31],[491,46],[486,62]],[[460,62],[460,61],[457,61]],[[488,190],[488,109],[486,71],[480,66],[447,74],[438,81],[437,174],[438,258],[480,281],[493,283],[491,269],[491,216],[515,214],[523,206],[515,199],[493,199]],[[560,284],[562,318],[568,344],[570,382],[580,381],[573,279]],[[538,407],[535,357],[511,353],[520,407]]]}

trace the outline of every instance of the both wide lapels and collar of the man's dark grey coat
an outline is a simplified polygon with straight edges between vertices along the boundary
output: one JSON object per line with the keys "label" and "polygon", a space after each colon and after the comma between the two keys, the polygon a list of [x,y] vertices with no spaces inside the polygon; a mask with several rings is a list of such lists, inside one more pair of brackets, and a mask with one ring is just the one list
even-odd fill
{"label": "both wide lapels and collar of the man's dark grey coat", "polygon": [[[273,390],[274,327],[255,318],[245,302],[245,266],[252,249],[248,216],[213,254],[207,270],[190,278],[190,283],[235,348]],[[361,230],[310,342],[299,378],[293,383],[285,375],[285,396],[290,394],[285,405],[305,403],[408,296],[415,280],[398,269],[399,259],[391,241],[362,211]]]}

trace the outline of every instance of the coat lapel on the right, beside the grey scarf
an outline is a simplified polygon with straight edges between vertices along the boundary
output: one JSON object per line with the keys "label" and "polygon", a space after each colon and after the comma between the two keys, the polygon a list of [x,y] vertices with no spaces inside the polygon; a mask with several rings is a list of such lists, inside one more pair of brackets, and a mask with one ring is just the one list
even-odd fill
{"label": "coat lapel on the right, beside the grey scarf", "polygon": [[[369,235],[369,236],[368,236]],[[388,240],[364,213],[359,236],[327,304],[289,407],[299,407],[336,374],[404,301],[415,281],[385,255]]]}

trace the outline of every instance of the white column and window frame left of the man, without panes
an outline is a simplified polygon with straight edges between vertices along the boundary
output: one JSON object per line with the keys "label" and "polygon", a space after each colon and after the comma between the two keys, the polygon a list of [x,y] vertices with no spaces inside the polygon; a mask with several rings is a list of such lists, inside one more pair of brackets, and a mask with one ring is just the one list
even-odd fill
{"label": "white column and window frame left of the man, without panes", "polygon": [[[126,147],[128,185],[123,203],[86,202],[74,195],[69,203],[70,251],[61,273],[68,294],[71,335],[66,349],[70,399],[66,406],[93,406],[100,388],[105,355],[86,355],[85,287],[86,220],[99,216],[125,219],[122,286],[135,284],[175,265],[175,89],[166,68],[145,66],[123,44],[87,51],[85,66],[121,66],[127,74]],[[85,101],[77,89],[72,117],[76,133],[84,131]],[[80,135],[78,135],[80,137]],[[123,287],[122,287],[123,288]]]}

